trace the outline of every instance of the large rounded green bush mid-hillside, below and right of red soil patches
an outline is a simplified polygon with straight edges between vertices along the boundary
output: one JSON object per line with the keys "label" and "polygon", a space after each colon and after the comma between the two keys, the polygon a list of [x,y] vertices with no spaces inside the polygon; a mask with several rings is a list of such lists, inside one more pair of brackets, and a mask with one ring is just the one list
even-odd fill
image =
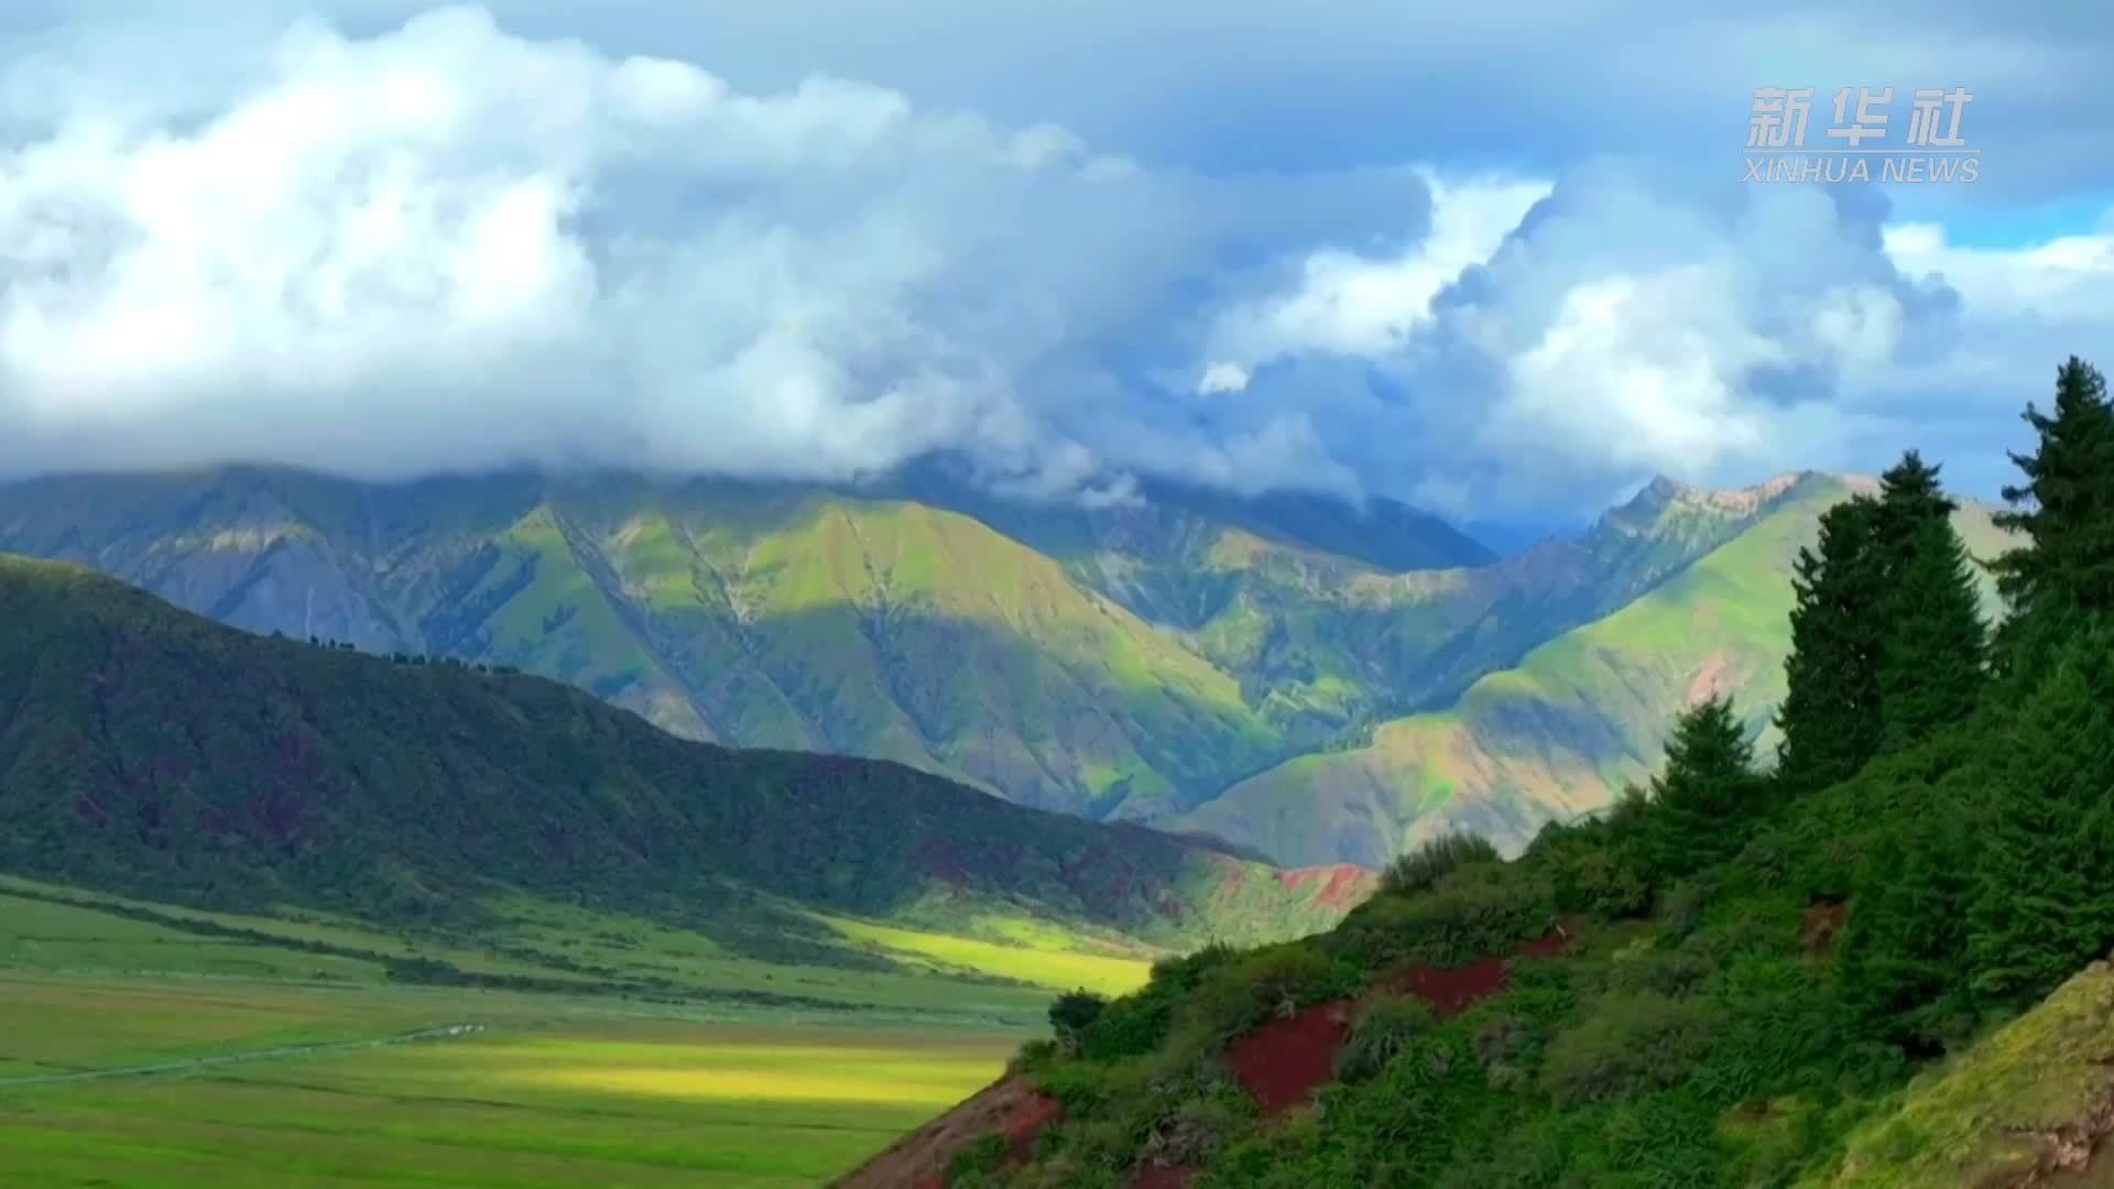
{"label": "large rounded green bush mid-hillside, below and right of red soil patches", "polygon": [[1588,1003],[1550,1041],[1541,1090],[1560,1104],[1624,1098],[1687,1077],[1710,1045],[1712,1018],[1693,1001],[1640,990]]}

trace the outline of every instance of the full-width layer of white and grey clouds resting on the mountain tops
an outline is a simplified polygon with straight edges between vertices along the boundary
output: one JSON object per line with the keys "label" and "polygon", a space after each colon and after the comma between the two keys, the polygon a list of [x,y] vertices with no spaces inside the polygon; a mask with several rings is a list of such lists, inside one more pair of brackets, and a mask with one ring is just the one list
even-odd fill
{"label": "full-width layer of white and grey clouds resting on the mountain tops", "polygon": [[979,114],[960,72],[943,104],[831,61],[736,83],[548,4],[222,13],[0,19],[0,470],[848,478],[951,449],[1025,493],[1533,510],[1989,453],[2114,322],[2114,226],[1979,248],[1949,231],[1974,212],[1740,186],[1744,74],[1723,169],[1609,125],[1628,152],[1433,127],[1260,171],[1013,118],[1002,80]]}

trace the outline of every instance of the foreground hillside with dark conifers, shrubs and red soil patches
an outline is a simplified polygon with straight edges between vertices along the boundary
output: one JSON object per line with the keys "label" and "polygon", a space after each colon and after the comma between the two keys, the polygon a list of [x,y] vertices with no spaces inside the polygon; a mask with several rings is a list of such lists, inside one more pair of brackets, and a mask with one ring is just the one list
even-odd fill
{"label": "foreground hillside with dark conifers, shrubs and red soil patches", "polygon": [[2114,408],[2070,360],[2027,421],[2000,630],[1909,453],[1795,554],[1774,766],[1708,696],[1647,787],[1514,861],[1438,838],[1325,935],[1061,996],[1006,1083],[1017,1126],[882,1159],[956,1189],[2084,1166],[2103,971],[2057,988],[2114,946]]}

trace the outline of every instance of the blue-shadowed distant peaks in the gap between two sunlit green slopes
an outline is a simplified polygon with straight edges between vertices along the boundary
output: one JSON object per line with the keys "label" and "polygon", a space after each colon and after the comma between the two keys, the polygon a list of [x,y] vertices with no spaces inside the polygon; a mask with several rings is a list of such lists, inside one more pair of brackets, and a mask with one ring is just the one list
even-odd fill
{"label": "blue-shadowed distant peaks in the gap between two sunlit green slopes", "polygon": [[[1239,677],[1247,705],[1294,745],[1317,749],[1444,705],[1533,645],[1624,605],[1755,523],[1784,482],[1714,493],[1659,478],[1581,539],[1505,561],[1480,546],[1435,548],[1429,531],[1412,533],[1412,548],[1402,537],[1416,514],[1385,501],[1347,523],[1323,516],[1328,504],[1279,499],[1262,518],[1180,489],[1101,510],[920,491],[1061,561],[1082,586]],[[1355,533],[1370,537],[1366,548]]]}

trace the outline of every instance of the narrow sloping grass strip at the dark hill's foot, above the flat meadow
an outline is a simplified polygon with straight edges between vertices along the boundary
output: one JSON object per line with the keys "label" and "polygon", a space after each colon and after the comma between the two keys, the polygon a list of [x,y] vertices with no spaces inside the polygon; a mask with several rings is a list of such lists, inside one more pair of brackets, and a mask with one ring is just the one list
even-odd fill
{"label": "narrow sloping grass strip at the dark hill's foot, above the flat meadow", "polygon": [[1148,963],[1078,948],[1061,931],[1015,946],[818,916],[860,965],[765,963],[700,933],[596,914],[528,895],[488,901],[478,939],[395,935],[315,912],[235,914],[161,906],[0,876],[0,971],[42,975],[205,975],[345,986],[404,986],[406,963],[444,963],[463,977],[596,996],[651,984],[653,999],[719,1007],[797,1007],[852,1022],[975,1022],[1034,1028],[1051,992],[1125,992]]}

